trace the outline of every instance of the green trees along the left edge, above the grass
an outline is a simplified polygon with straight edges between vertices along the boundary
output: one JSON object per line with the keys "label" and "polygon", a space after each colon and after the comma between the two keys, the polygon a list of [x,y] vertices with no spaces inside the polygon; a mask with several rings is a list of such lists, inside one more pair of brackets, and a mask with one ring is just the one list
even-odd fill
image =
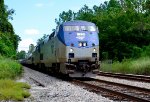
{"label": "green trees along the left edge, above the grass", "polygon": [[14,28],[9,20],[12,20],[14,14],[13,9],[8,9],[4,5],[4,0],[0,0],[0,55],[15,57],[18,42],[21,40],[15,34]]}

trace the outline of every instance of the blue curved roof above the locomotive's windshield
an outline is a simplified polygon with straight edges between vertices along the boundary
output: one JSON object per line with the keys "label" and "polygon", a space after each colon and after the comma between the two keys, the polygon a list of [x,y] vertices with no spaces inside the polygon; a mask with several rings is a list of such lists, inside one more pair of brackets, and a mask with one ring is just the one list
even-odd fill
{"label": "blue curved roof above the locomotive's windshield", "polygon": [[95,24],[92,22],[82,21],[82,20],[74,20],[74,21],[68,21],[63,23],[63,26],[75,26],[75,25],[95,26]]}

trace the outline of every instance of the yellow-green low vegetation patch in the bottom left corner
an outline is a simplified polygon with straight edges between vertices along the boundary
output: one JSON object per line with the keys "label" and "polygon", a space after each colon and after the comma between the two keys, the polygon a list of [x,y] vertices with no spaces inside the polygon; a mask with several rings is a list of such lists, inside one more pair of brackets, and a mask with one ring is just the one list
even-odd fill
{"label": "yellow-green low vegetation patch in the bottom left corner", "polygon": [[30,86],[12,80],[0,80],[0,100],[17,100],[22,101],[29,97],[30,94],[24,89],[29,89]]}

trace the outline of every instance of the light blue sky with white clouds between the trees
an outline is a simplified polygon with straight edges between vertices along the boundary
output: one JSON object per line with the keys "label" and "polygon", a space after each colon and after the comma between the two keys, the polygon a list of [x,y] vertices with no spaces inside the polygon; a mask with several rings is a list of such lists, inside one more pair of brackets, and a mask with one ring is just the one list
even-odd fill
{"label": "light blue sky with white clouds between the trees", "polygon": [[107,0],[5,0],[9,9],[14,9],[13,20],[10,21],[15,33],[21,37],[18,51],[28,51],[44,34],[51,34],[56,27],[55,18],[69,9],[77,12],[85,4],[92,8]]}

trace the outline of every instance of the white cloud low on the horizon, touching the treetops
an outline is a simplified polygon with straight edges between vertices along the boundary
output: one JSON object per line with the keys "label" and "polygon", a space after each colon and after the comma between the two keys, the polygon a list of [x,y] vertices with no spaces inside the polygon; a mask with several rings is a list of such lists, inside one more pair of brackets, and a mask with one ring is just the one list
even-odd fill
{"label": "white cloud low on the horizon, touching the treetops", "polygon": [[34,44],[36,45],[36,43],[33,41],[33,39],[28,38],[28,39],[23,39],[18,46],[18,51],[24,50],[26,52],[28,52],[29,50],[29,45],[30,44]]}

